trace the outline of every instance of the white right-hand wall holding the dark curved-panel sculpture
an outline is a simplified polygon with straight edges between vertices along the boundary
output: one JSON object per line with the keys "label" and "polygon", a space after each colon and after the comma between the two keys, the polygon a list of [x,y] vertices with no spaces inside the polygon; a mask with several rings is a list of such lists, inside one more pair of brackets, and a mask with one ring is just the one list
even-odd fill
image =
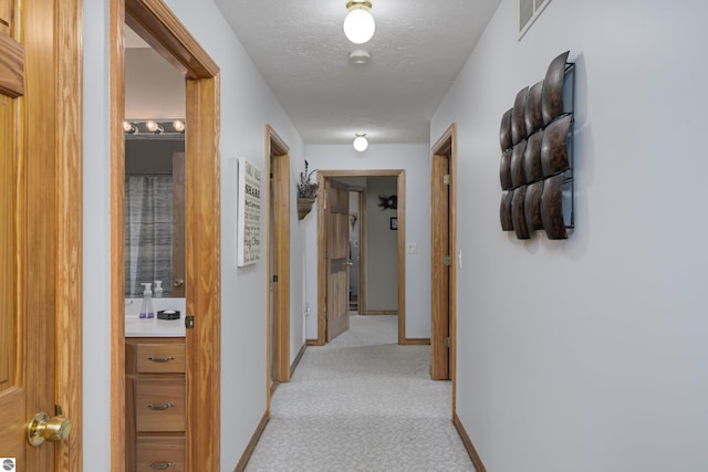
{"label": "white right-hand wall holding the dark curved-panel sculpture", "polygon": [[[503,0],[431,123],[458,129],[458,415],[488,470],[708,470],[708,3]],[[499,124],[570,50],[576,229],[499,223]]]}

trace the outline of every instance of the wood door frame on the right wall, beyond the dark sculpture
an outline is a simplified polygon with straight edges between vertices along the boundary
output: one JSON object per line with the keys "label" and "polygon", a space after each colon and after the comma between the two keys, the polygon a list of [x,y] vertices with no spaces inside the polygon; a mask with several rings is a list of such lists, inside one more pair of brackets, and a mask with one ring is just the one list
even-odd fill
{"label": "wood door frame on the right wall, beyond the dark sculpture", "polygon": [[[440,179],[442,179],[442,175],[437,170],[437,166],[435,166],[435,160],[436,159],[440,159],[440,158],[445,158],[448,159],[448,174],[450,175],[450,182],[449,182],[449,198],[448,198],[448,202],[447,202],[447,211],[448,211],[448,225],[447,228],[435,228],[435,216],[434,213],[436,211],[445,211],[442,209],[438,209],[436,208],[436,200],[435,200],[435,196],[430,196],[430,213],[431,213],[431,221],[430,221],[430,231],[433,232],[431,234],[431,242],[435,241],[435,233],[436,231],[445,231],[447,230],[448,233],[448,241],[449,241],[449,247],[448,247],[448,252],[449,252],[449,256],[450,256],[450,269],[449,269],[449,273],[448,273],[448,277],[449,277],[449,285],[448,285],[448,317],[447,319],[441,319],[439,316],[436,316],[436,311],[431,310],[431,329],[430,329],[430,365],[431,365],[431,370],[435,370],[435,366],[437,364],[436,361],[436,356],[438,355],[438,350],[436,349],[436,347],[439,346],[439,344],[442,342],[442,339],[439,339],[438,337],[434,336],[435,333],[439,333],[440,329],[440,324],[441,323],[446,323],[448,324],[448,336],[450,338],[450,350],[449,350],[449,366],[448,366],[448,371],[449,371],[449,377],[452,380],[452,417],[455,417],[455,411],[456,411],[456,392],[457,392],[457,384],[456,384],[456,361],[457,361],[457,350],[456,350],[456,346],[457,346],[457,270],[455,269],[457,266],[456,261],[457,261],[457,243],[456,243],[456,234],[457,234],[457,191],[456,191],[456,181],[457,181],[457,136],[456,136],[456,125],[451,124],[450,127],[442,134],[442,136],[440,136],[440,138],[436,141],[436,144],[433,146],[431,151],[430,151],[430,168],[431,168],[431,172],[430,172],[430,178],[431,181],[435,181],[436,179],[438,179],[438,181]],[[431,261],[430,261],[430,280],[435,281],[437,279],[440,277],[440,271],[441,271],[441,261],[435,261],[435,251],[430,251],[431,254]],[[435,291],[438,290],[438,287],[435,284],[430,284],[431,285],[431,301],[433,303],[435,303],[436,296],[435,296]],[[435,308],[435,306],[433,306],[433,308]],[[431,371],[431,374],[433,374]],[[435,378],[435,376],[434,376]]]}

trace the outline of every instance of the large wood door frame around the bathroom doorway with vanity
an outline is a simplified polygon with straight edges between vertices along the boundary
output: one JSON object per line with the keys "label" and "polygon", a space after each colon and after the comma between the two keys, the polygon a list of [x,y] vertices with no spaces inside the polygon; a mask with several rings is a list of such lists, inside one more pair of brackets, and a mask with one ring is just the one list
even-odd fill
{"label": "large wood door frame around the bathroom doorway with vanity", "polygon": [[219,67],[162,0],[111,0],[111,469],[125,464],[124,25],[186,76],[186,470],[218,471],[221,369]]}

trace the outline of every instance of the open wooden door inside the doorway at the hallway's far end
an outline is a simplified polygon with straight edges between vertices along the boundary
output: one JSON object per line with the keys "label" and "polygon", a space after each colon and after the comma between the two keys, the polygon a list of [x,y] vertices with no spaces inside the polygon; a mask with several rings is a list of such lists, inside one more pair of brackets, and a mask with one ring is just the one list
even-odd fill
{"label": "open wooden door inside the doorway at the hallway's far end", "polygon": [[327,180],[326,188],[326,339],[350,328],[350,190]]}

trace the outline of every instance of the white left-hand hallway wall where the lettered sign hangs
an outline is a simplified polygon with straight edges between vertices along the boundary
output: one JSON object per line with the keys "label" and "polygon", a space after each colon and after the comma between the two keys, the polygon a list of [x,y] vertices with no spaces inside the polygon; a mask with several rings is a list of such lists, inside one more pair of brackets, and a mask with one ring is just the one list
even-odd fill
{"label": "white left-hand hallway wall where the lettered sign hangs", "polygon": [[[96,430],[84,436],[86,470],[108,470],[110,450],[110,123],[107,0],[84,2],[84,408]],[[256,71],[218,8],[207,0],[167,0],[168,7],[220,67],[221,84],[221,469],[233,470],[266,412],[266,244],[256,265],[236,269],[236,159],[266,168],[266,124],[290,146],[291,161],[304,146]],[[298,167],[299,168],[299,167]],[[294,171],[293,171],[294,176]],[[294,185],[291,189],[295,198]],[[304,344],[301,251],[304,231],[292,208],[291,348]],[[264,220],[263,220],[264,221]],[[266,234],[263,224],[262,234]],[[294,356],[294,354],[293,354]],[[90,381],[88,381],[90,379]],[[93,417],[92,417],[93,418]],[[101,420],[103,418],[103,420]],[[92,421],[93,424],[93,421]],[[85,429],[88,431],[88,429]]]}

